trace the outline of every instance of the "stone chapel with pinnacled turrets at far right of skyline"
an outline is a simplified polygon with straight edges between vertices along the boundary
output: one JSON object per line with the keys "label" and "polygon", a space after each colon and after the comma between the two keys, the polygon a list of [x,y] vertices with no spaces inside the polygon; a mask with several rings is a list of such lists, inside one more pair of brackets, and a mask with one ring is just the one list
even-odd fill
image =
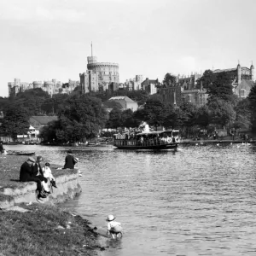
{"label": "stone chapel with pinnacled turrets at far right of skyline", "polygon": [[233,92],[241,99],[246,98],[255,83],[253,64],[251,67],[237,67],[229,69],[216,69],[213,73],[228,73],[233,83]]}

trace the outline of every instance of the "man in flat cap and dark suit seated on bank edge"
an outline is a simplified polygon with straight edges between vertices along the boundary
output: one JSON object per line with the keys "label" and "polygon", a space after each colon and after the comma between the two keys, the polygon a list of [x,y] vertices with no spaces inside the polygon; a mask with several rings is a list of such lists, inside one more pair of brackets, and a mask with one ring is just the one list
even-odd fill
{"label": "man in flat cap and dark suit seated on bank edge", "polygon": [[36,182],[37,183],[37,192],[38,192],[38,199],[45,198],[44,189],[41,184],[41,180],[38,177],[33,175],[33,165],[35,160],[32,157],[29,157],[26,162],[24,162],[20,166],[20,182]]}

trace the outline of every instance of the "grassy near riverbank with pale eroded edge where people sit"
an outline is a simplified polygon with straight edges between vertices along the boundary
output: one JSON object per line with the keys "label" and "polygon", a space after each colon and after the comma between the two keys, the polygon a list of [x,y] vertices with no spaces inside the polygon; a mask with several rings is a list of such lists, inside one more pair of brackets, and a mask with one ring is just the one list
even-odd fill
{"label": "grassy near riverbank with pale eroded edge where people sit", "polygon": [[78,170],[51,165],[58,188],[38,202],[36,183],[19,182],[26,160],[27,156],[0,155],[0,254],[93,256],[104,250],[89,221],[58,207],[81,192]]}

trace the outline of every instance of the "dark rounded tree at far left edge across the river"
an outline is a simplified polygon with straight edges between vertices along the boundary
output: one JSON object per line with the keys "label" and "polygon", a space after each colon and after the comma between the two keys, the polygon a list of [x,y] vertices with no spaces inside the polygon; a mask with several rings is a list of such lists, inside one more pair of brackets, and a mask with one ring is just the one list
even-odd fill
{"label": "dark rounded tree at far left edge across the river", "polygon": [[27,134],[29,130],[28,119],[28,113],[25,108],[18,108],[15,105],[11,106],[6,110],[0,131],[5,136],[16,140],[17,135]]}

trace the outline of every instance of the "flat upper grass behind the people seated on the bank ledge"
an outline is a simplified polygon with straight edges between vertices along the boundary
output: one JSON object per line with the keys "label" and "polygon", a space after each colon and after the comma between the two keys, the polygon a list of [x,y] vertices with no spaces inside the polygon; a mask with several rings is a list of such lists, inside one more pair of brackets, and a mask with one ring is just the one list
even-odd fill
{"label": "flat upper grass behind the people seated on the bank ledge", "polygon": [[[27,160],[27,158],[28,156],[26,155],[5,155],[5,156],[0,155],[0,192],[1,192],[1,188],[15,189],[15,188],[20,188],[24,186],[24,183],[19,182],[20,166]],[[44,166],[44,162],[42,163],[41,166]],[[76,169],[57,170],[58,167],[62,167],[62,166],[58,166],[54,164],[50,165],[50,169],[54,177],[77,172]]]}

